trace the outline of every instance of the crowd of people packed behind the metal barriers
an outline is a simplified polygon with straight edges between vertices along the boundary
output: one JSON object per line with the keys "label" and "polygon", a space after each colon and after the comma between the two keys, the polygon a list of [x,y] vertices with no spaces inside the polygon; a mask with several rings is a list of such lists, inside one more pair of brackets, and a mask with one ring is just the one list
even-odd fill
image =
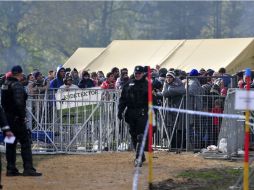
{"label": "crowd of people packed behind the metal barriers", "polygon": [[[144,67],[145,73],[147,72],[147,67]],[[240,71],[235,75],[229,75],[226,73],[225,68],[220,68],[218,71],[212,69],[192,69],[189,72],[174,69],[174,68],[156,68],[151,69],[151,75],[153,79],[153,87],[157,92],[164,91],[164,95],[170,95],[172,88],[179,87],[183,84],[186,89],[189,85],[189,93],[201,92],[202,94],[211,94],[211,95],[222,95],[226,96],[227,89],[231,84],[231,77],[236,76],[238,79],[237,86],[239,88],[245,87],[244,81],[244,71]],[[1,75],[1,81],[4,81],[6,78],[12,75],[11,72],[7,72]],[[191,76],[187,80],[186,77]],[[199,78],[195,78],[199,77]],[[124,84],[126,84],[131,78],[134,78],[134,75],[131,71],[131,74],[128,73],[127,68],[119,69],[114,67],[106,75],[103,71],[98,72],[89,72],[82,71],[79,73],[77,69],[64,68],[59,65],[56,69],[50,70],[46,75],[43,75],[39,70],[34,70],[32,73],[23,75],[22,83],[26,87],[26,90],[29,95],[41,94],[48,89],[67,89],[67,88],[92,88],[92,87],[101,87],[102,89],[122,89]],[[169,78],[172,78],[170,80]],[[165,82],[166,81],[166,82]],[[2,83],[2,82],[1,82]],[[169,85],[170,84],[170,85]],[[163,87],[164,86],[164,87]],[[166,90],[169,88],[169,92]],[[201,90],[193,89],[192,87],[200,88]],[[234,86],[236,87],[236,86]],[[254,82],[252,81],[251,87],[254,87]],[[164,88],[164,90],[163,90]],[[174,89],[176,90],[176,89]],[[176,93],[179,93],[176,91]]]}

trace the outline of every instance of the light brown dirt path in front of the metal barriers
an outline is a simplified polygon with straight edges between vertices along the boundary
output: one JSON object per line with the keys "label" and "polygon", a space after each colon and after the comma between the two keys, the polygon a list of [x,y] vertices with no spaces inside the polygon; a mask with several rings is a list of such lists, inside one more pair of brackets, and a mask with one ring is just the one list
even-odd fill
{"label": "light brown dirt path in front of the metal barriers", "polygon": [[[8,190],[130,190],[134,174],[133,152],[54,156],[39,162],[42,177],[5,177]],[[154,153],[154,181],[187,169],[241,167],[241,162],[205,160],[193,153]],[[36,159],[36,158],[35,158]],[[141,169],[139,189],[147,186],[147,163]]]}

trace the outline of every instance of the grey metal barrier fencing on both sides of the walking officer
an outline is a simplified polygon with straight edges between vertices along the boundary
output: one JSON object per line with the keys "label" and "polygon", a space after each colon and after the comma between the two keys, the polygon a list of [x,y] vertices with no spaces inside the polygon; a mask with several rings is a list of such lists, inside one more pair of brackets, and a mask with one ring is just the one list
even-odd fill
{"label": "grey metal barrier fencing on both sides of the walking officer", "polygon": [[[132,145],[128,126],[117,119],[119,97],[119,91],[101,89],[48,91],[46,94],[30,96],[27,101],[27,118],[32,130],[33,151],[82,153],[130,150]],[[229,111],[233,101],[234,98],[225,100],[222,96],[185,95],[175,96],[174,99],[164,98],[161,106],[233,113]],[[153,146],[158,149],[199,150],[217,145],[220,131],[231,127],[232,122],[235,122],[235,129],[243,128],[243,122],[232,119],[163,109],[155,110],[155,116]],[[234,134],[235,129],[228,128],[226,133],[231,130]],[[237,134],[241,140],[241,134]]]}

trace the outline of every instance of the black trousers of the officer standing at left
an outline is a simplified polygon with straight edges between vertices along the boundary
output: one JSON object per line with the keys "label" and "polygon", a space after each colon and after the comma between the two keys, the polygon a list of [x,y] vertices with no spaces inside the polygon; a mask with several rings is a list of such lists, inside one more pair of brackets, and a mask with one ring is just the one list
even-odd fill
{"label": "black trousers of the officer standing at left", "polygon": [[19,141],[21,145],[21,156],[23,160],[24,170],[33,168],[31,139],[26,128],[25,123],[15,120],[11,126],[11,131],[16,137],[13,144],[6,144],[6,160],[7,170],[13,170],[16,168],[16,146]]}

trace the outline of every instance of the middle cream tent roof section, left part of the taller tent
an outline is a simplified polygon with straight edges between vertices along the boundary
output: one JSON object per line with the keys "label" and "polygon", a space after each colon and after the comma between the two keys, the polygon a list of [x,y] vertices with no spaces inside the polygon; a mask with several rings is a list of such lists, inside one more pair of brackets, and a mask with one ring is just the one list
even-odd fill
{"label": "middle cream tent roof section, left part of the taller tent", "polygon": [[86,69],[110,71],[113,67],[133,71],[136,65],[161,64],[182,40],[115,40]]}

